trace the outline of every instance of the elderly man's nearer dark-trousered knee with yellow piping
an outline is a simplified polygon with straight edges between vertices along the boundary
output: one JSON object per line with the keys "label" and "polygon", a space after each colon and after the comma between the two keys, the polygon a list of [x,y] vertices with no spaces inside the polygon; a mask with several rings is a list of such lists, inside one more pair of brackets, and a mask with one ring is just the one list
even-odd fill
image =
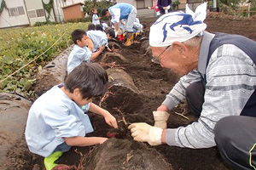
{"label": "elderly man's nearer dark-trousered knee with yellow piping", "polygon": [[256,117],[224,117],[214,134],[220,155],[231,167],[256,169]]}

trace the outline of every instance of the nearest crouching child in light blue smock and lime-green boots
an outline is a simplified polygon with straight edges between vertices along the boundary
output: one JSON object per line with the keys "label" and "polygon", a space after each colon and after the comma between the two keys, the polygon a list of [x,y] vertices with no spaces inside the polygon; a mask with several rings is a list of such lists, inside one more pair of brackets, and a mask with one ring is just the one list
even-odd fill
{"label": "nearest crouching child in light blue smock and lime-green boots", "polygon": [[102,115],[108,125],[118,127],[108,111],[91,103],[107,90],[108,75],[102,66],[84,62],[67,76],[64,84],[49,89],[33,103],[26,122],[26,144],[32,153],[44,156],[47,170],[55,167],[55,160],[71,146],[90,146],[107,140],[85,137],[93,128],[84,112]]}

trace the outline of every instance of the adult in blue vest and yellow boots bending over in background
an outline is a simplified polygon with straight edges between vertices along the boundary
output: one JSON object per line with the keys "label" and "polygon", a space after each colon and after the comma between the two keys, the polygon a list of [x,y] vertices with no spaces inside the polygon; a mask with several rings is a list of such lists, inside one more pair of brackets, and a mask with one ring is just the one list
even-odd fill
{"label": "adult in blue vest and yellow boots bending over in background", "polygon": [[102,16],[112,17],[114,23],[114,31],[116,36],[119,34],[119,21],[125,19],[125,32],[127,40],[125,46],[131,46],[133,40],[133,30],[137,9],[129,3],[117,3],[110,8],[102,9]]}

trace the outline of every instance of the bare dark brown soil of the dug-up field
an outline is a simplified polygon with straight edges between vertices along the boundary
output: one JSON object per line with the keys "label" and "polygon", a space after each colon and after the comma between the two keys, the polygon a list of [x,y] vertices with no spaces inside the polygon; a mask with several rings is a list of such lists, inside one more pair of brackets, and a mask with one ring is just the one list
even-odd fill
{"label": "bare dark brown soil of the dug-up field", "polygon": [[[241,34],[256,40],[255,21],[245,18],[210,14],[205,22],[207,31]],[[152,20],[145,20],[148,26]],[[142,43],[133,44],[129,48],[122,47],[120,54],[125,56],[125,61],[119,62],[119,69],[128,73],[137,88],[109,88],[111,92],[101,105],[116,116],[119,121],[117,139],[109,139],[102,145],[91,147],[73,147],[64,153],[58,163],[76,165],[79,169],[174,169],[174,170],[228,170],[228,167],[218,153],[216,147],[210,149],[191,150],[168,145],[152,147],[148,144],[134,142],[130,132],[126,129],[125,122],[147,122],[153,125],[152,111],[161,104],[166,94],[177,82],[177,75],[151,62]],[[109,68],[109,66],[105,66]],[[96,101],[99,104],[99,100]],[[183,113],[179,116],[177,113]],[[168,127],[186,126],[196,121],[187,107],[186,102],[170,111]],[[92,136],[106,137],[113,133],[102,117],[89,113],[90,120],[95,128]],[[188,118],[188,119],[187,119]],[[125,119],[125,121],[124,121]],[[26,147],[23,139],[10,150],[9,169],[44,169],[44,158],[33,155]]]}

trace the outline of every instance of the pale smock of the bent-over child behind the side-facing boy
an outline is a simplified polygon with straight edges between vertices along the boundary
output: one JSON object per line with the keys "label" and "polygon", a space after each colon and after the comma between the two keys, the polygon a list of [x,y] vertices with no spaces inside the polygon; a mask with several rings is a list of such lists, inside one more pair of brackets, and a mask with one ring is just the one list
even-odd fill
{"label": "pale smock of the bent-over child behind the side-facing boy", "polygon": [[93,52],[96,52],[96,50],[104,44],[108,47],[108,37],[105,32],[91,30],[91,31],[87,31],[86,34],[87,34],[87,37],[90,37],[93,43]]}

